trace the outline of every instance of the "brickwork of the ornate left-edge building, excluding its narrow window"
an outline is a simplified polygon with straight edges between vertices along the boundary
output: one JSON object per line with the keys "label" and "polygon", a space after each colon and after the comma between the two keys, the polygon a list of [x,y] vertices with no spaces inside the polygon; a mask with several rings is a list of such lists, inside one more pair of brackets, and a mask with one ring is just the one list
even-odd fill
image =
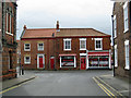
{"label": "brickwork of the ornate left-edge building, excluding its narrow window", "polygon": [[[5,32],[5,11],[8,8],[12,8],[12,34],[8,35]],[[16,3],[15,2],[2,2],[2,78],[12,78],[16,76]],[[9,52],[11,52],[9,54]],[[10,57],[10,59],[9,59]],[[11,60],[11,64],[9,61]],[[12,69],[10,69],[10,65]]]}

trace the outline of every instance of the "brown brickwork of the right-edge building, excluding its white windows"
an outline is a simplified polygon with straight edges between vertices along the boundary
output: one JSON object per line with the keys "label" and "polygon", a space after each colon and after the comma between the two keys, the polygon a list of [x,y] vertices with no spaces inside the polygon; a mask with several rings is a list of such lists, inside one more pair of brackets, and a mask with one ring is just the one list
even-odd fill
{"label": "brown brickwork of the right-edge building, excluding its white windows", "polygon": [[[123,23],[123,4],[121,2],[115,3],[114,7],[114,15],[117,19],[117,38],[115,38],[115,45],[118,48],[118,68],[116,68],[116,75],[120,76],[129,76],[129,70],[126,70],[126,54],[124,54],[124,41],[128,39],[130,40],[130,57],[131,57],[131,29],[127,33],[124,30],[124,23]],[[129,10],[129,25],[130,25],[130,10]],[[130,58],[131,62],[131,58]],[[131,64],[130,64],[131,68]]]}

